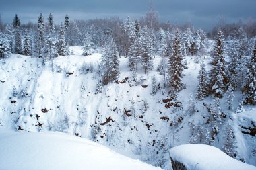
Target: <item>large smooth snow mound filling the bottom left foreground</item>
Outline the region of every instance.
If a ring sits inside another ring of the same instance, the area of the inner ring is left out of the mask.
[[[0,131],[0,169],[160,169],[76,136]]]

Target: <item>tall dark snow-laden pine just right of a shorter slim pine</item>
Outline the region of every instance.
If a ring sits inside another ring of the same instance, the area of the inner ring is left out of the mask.
[[[212,51],[212,61],[210,62],[212,69],[210,70],[210,93],[216,97],[222,97],[226,90],[228,77],[226,75],[226,64],[223,56],[223,34],[218,30],[214,50]]]

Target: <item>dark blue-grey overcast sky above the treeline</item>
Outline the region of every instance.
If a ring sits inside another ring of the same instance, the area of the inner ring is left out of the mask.
[[[3,1],[3,0],[1,0]],[[256,19],[256,0],[154,0],[162,22],[184,24],[192,22],[196,28],[210,29],[222,15],[226,22]],[[3,22],[12,22],[15,13],[22,23],[36,22],[40,13],[53,14],[61,23],[66,14],[70,19],[94,19],[119,16],[137,18],[149,9],[149,0],[7,0],[1,3]]]

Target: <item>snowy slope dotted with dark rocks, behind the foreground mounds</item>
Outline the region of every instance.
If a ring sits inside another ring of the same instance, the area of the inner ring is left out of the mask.
[[[77,135],[123,155],[170,169],[168,149],[188,144],[191,137],[189,124],[194,121],[205,125],[206,106],[213,105],[212,97],[203,101],[195,99],[200,68],[195,62],[196,57],[185,57],[188,69],[184,72],[183,83],[186,89],[179,93],[177,101],[167,102],[173,102],[168,108],[164,101],[168,95],[161,89],[163,76],[156,71],[160,57],[154,58],[154,69],[148,75],[139,68],[138,85],[131,80],[128,58],[120,58],[119,82],[109,83],[103,87],[103,93],[96,93],[99,80],[96,70],[101,54],[81,56],[79,46],[71,47],[71,52],[74,55],[59,56],[46,65],[42,65],[42,58],[21,55],[0,60],[0,128]],[[203,57],[209,69],[210,57]],[[156,75],[158,87],[154,96],[150,95],[153,75]],[[191,116],[187,114],[190,94],[197,110]],[[242,95],[238,91],[234,94],[235,110]],[[226,118],[213,144],[222,148],[224,124],[230,122],[235,131],[236,158],[256,165],[256,138],[242,133],[247,131],[245,128],[253,128],[255,107],[247,106],[236,114],[234,110],[226,109],[224,101],[224,97],[220,99],[220,107]],[[146,104],[148,108],[145,109]],[[132,108],[135,117],[129,116]]]

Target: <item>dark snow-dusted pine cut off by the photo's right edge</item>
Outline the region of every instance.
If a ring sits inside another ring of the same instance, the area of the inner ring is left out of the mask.
[[[248,65],[248,72],[246,76],[246,83],[243,87],[245,93],[245,104],[256,104],[256,42],[254,44],[253,54]]]

